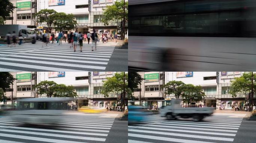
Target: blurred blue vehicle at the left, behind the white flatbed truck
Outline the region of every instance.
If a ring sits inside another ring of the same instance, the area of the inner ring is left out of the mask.
[[[147,115],[150,115],[147,107],[128,106],[128,123],[142,122]]]

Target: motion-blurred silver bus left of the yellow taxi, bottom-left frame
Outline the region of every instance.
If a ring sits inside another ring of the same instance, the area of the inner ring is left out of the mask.
[[[18,122],[52,124],[61,121],[63,113],[68,109],[68,102],[74,100],[71,97],[23,98],[16,100],[16,110],[8,113]]]

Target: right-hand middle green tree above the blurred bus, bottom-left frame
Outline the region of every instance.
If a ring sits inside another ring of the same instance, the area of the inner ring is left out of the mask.
[[[76,97],[77,94],[73,86],[66,86],[64,84],[57,84],[53,87],[54,97]]]

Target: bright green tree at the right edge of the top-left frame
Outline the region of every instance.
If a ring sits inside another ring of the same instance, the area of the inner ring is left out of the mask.
[[[128,21],[128,0],[117,0],[111,6],[106,6],[103,9],[103,19],[101,20],[104,25],[109,25],[110,21],[117,21],[122,19],[122,39],[125,37],[125,23]]]

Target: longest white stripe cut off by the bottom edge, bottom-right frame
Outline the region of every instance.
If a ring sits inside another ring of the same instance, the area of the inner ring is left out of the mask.
[[[153,140],[164,140],[169,142],[178,142],[178,143],[213,143],[213,142],[202,142],[197,140],[185,140],[185,139],[176,139],[170,137],[159,137],[159,136],[149,136],[149,135],[141,135],[141,134],[132,134],[128,133],[128,137],[139,137],[144,139],[153,139]]]

